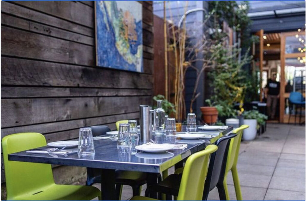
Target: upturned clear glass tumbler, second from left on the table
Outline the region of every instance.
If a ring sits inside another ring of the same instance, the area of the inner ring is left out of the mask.
[[[131,152],[131,134],[128,123],[119,124],[117,148],[119,153]]]

